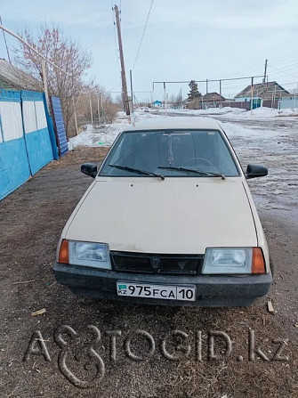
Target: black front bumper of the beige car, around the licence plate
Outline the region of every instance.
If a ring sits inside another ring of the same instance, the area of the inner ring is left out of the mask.
[[[255,298],[265,296],[272,283],[272,275],[230,276],[230,275],[160,275],[98,270],[77,265],[55,263],[53,272],[56,280],[68,286],[74,293],[108,300],[153,305],[188,306],[246,306]],[[155,285],[196,286],[195,301],[162,300],[156,298],[117,296],[117,281]]]

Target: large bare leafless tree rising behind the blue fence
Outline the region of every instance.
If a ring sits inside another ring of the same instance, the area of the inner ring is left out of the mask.
[[[68,73],[66,75],[47,64],[49,92],[60,97],[67,135],[71,136],[74,128],[72,97],[82,91],[82,78],[90,68],[91,53],[83,49],[77,41],[66,37],[62,28],[57,25],[49,28],[46,24],[41,24],[36,36],[25,26],[19,31],[19,35],[44,57]],[[40,56],[21,43],[14,49],[14,53],[14,61],[20,69],[36,78],[42,76]]]

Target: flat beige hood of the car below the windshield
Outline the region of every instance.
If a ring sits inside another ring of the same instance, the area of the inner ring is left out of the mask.
[[[109,243],[110,250],[165,254],[257,246],[239,177],[97,178],[65,238]]]

